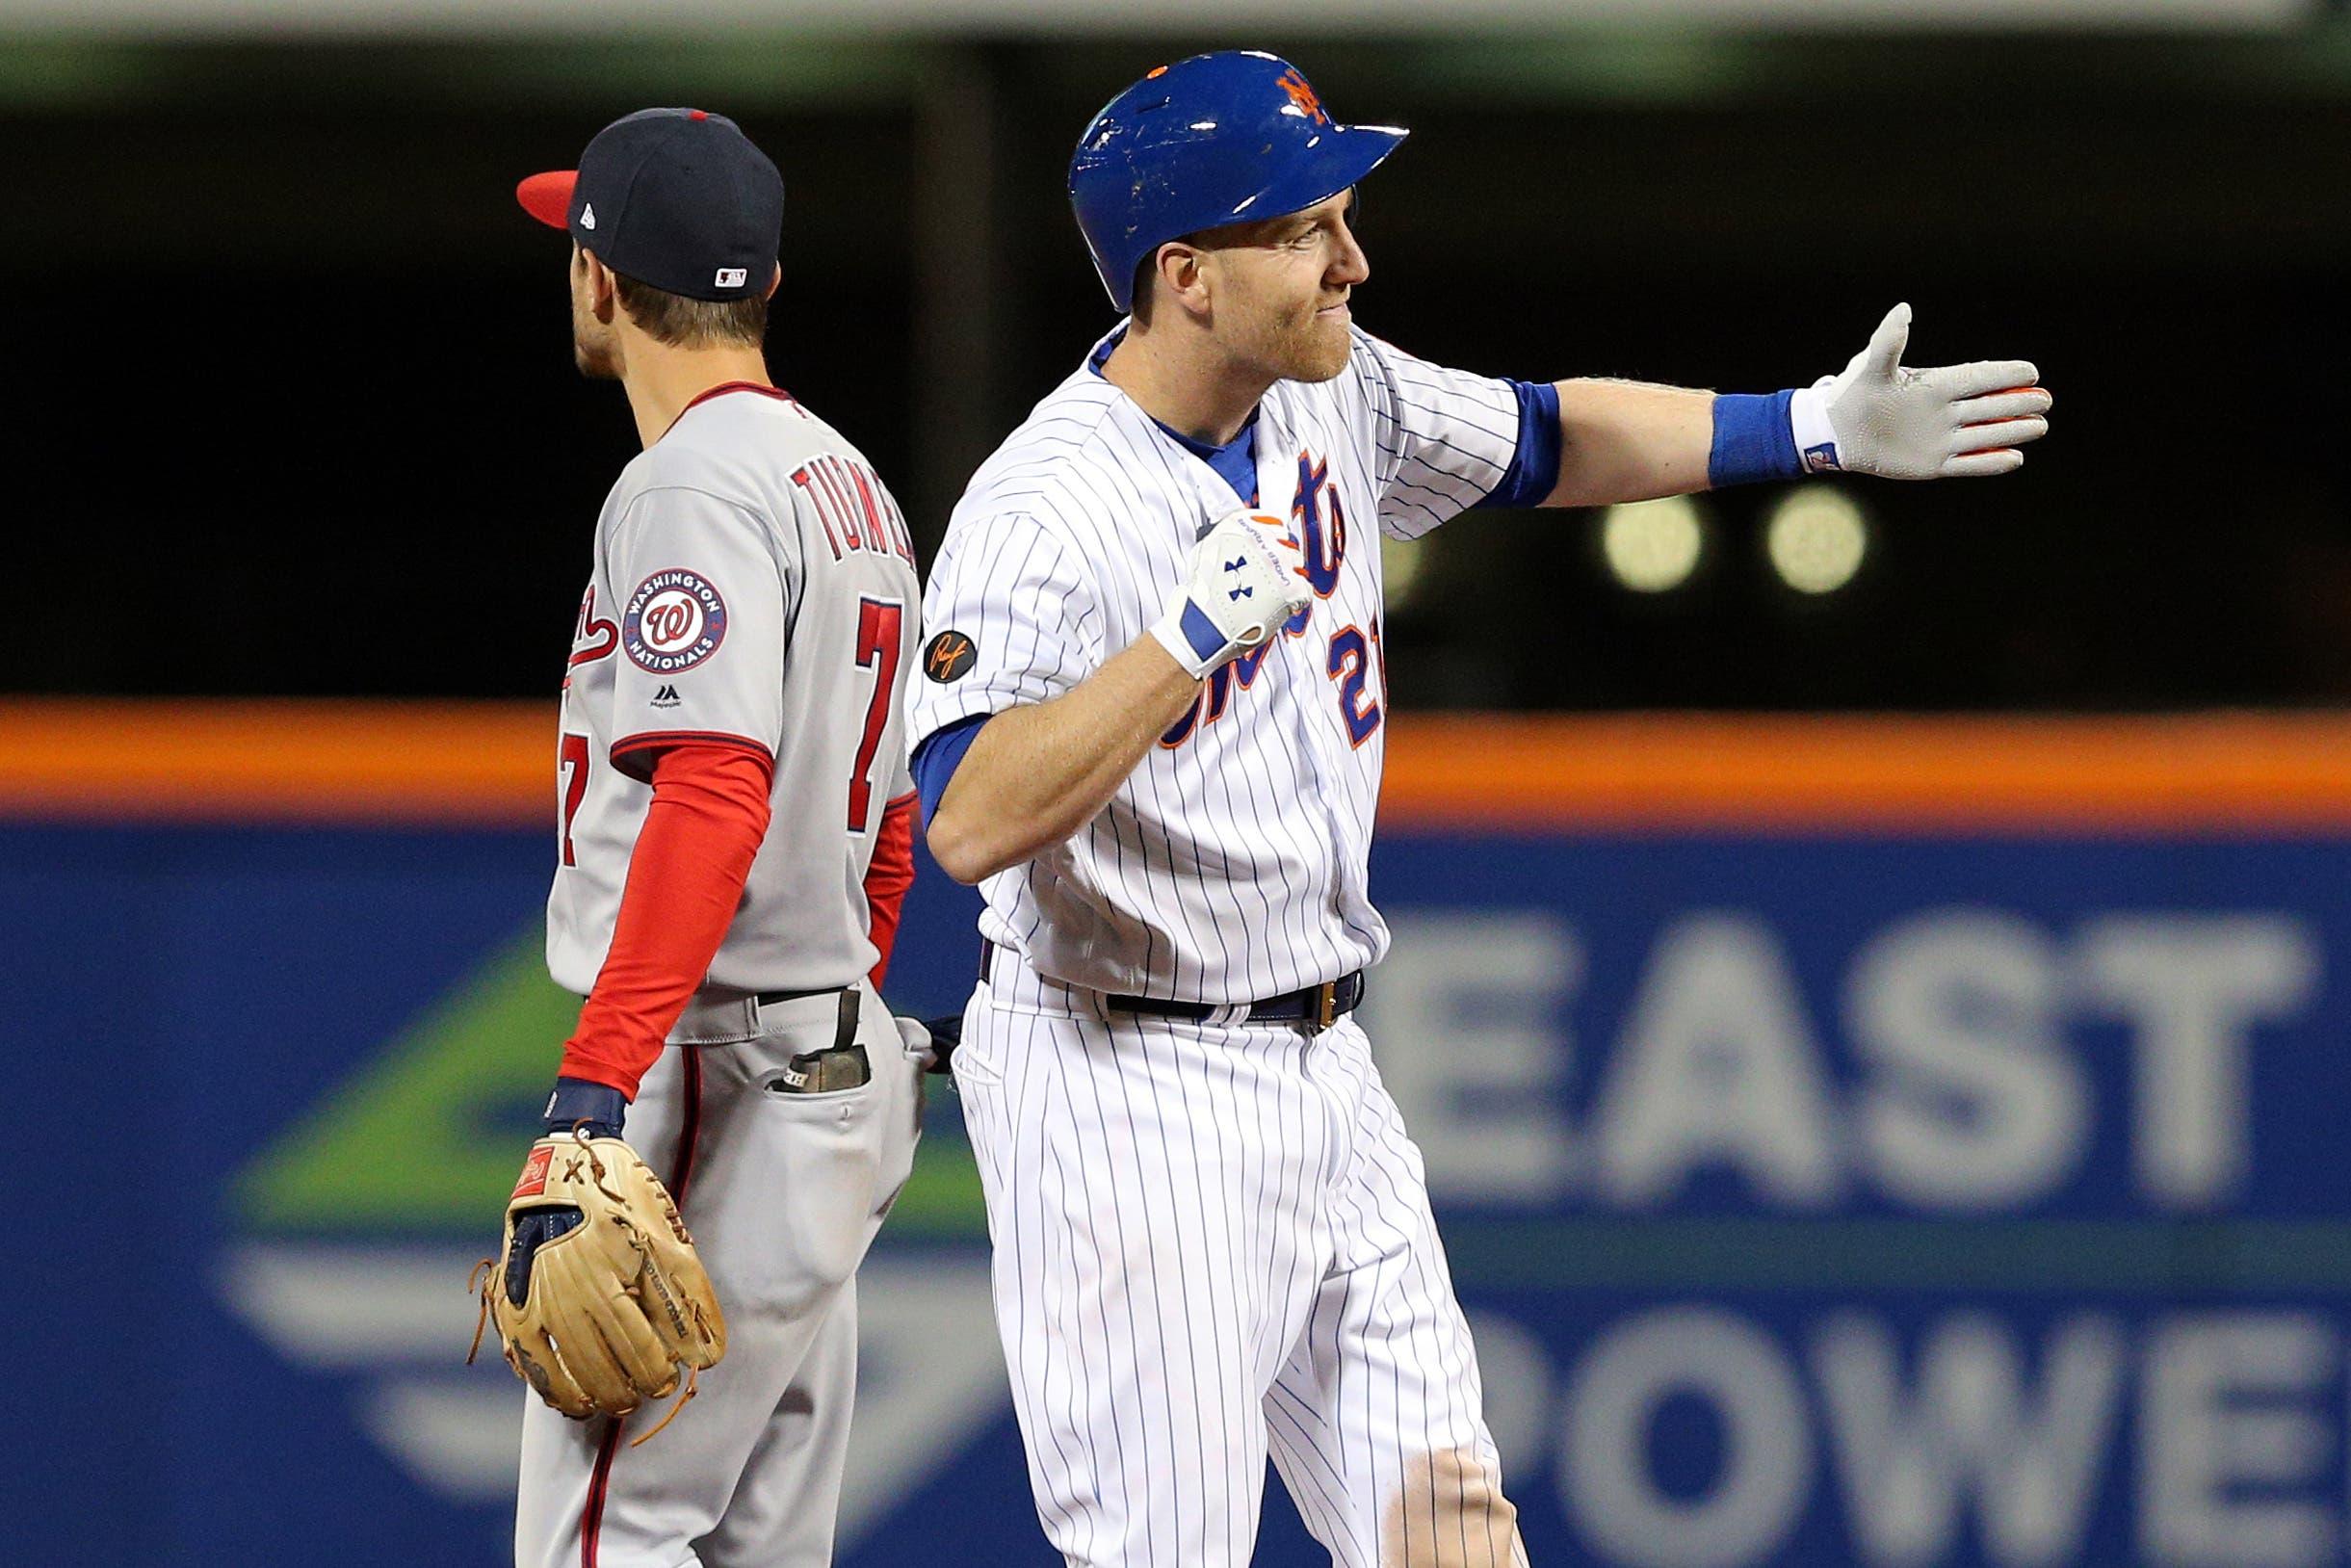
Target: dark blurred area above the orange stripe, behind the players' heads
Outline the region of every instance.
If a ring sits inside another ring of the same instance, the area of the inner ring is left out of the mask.
[[[776,155],[776,376],[868,449],[929,552],[1112,322],[1063,197],[1074,134],[1152,63],[1248,42],[1340,118],[1415,129],[1366,193],[1359,296],[1413,353],[1770,390],[1841,369],[1907,299],[1911,362],[2024,355],[2057,393],[2017,477],[1822,487],[1794,564],[1780,489],[1465,517],[1392,559],[1404,705],[2351,696],[2342,7],[1074,42],[919,16],[858,40],[825,12],[813,38],[411,42],[73,33],[19,5],[9,691],[552,693],[635,442],[618,390],[571,369],[564,244],[510,188],[647,103],[731,113]],[[2201,31],[2146,26],[2175,14]]]

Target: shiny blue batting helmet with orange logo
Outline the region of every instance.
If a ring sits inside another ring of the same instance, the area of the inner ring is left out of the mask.
[[[1404,136],[1338,125],[1286,59],[1194,54],[1103,106],[1070,158],[1070,205],[1110,303],[1128,310],[1136,268],[1168,240],[1312,207]]]

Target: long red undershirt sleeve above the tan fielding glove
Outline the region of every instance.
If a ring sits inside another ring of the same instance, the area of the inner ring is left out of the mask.
[[[654,804],[628,856],[611,952],[564,1041],[562,1077],[637,1098],[743,903],[773,776],[752,745],[684,743],[654,759]]]

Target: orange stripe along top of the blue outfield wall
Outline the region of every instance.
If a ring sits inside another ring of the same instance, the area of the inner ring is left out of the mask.
[[[0,816],[552,825],[552,703],[0,701]],[[1389,827],[2351,832],[2351,715],[1389,722]]]

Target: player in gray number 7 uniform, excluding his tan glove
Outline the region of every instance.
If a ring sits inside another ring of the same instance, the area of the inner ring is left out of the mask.
[[[915,548],[858,449],[769,381],[783,179],[734,122],[628,115],[517,197],[569,230],[576,360],[644,440],[562,696],[548,966],[588,1001],[548,1128],[621,1135],[668,1182],[726,1354],[651,1441],[661,1410],[531,1399],[515,1561],[828,1563],[853,1269],[922,1114],[922,1034],[875,992],[912,879]],[[562,1234],[517,1222],[510,1300]]]

